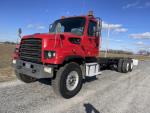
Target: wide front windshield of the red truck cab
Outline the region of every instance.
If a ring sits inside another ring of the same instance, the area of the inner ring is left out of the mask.
[[[69,32],[79,36],[83,35],[85,27],[85,18],[82,17],[74,17],[74,18],[66,18],[55,21],[51,28],[50,33],[58,33],[58,32]]]

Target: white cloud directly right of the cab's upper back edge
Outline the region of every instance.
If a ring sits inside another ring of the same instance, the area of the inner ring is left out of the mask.
[[[127,32],[128,29],[123,28],[122,24],[108,24],[106,22],[102,22],[102,28],[103,29],[108,29],[108,27],[117,32],[117,33],[121,33],[121,32]]]

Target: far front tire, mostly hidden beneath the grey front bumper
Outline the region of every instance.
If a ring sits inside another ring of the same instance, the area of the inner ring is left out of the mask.
[[[19,80],[25,82],[25,83],[32,83],[32,82],[35,82],[36,79],[33,78],[33,77],[29,77],[27,75],[24,75],[24,74],[21,74],[21,73],[17,73],[16,72],[16,76]]]

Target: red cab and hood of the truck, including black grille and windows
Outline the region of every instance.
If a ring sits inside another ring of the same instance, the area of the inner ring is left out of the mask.
[[[51,24],[49,33],[37,33],[22,38],[19,59],[60,65],[73,57],[96,57],[100,38],[97,27],[97,20],[93,15],[56,20]]]

